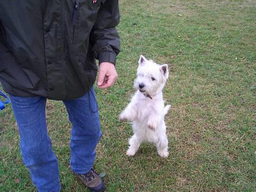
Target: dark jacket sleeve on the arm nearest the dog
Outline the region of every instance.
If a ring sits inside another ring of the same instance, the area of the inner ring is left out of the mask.
[[[99,63],[110,62],[115,65],[120,52],[120,37],[115,29],[119,24],[119,17],[118,0],[107,0],[98,10],[90,39],[92,51]]]

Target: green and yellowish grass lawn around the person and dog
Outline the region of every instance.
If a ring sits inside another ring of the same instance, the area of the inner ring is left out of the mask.
[[[256,2],[119,3],[119,79],[96,88],[103,137],[95,167],[106,172],[106,191],[255,191]],[[141,54],[169,66],[167,159],[147,143],[125,155],[132,130],[118,115],[134,92]],[[69,167],[71,124],[62,102],[48,101],[47,119],[62,191],[87,191]],[[36,191],[10,105],[0,112],[0,146],[0,191]]]

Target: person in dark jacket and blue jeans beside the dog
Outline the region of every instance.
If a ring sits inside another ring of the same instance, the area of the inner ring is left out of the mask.
[[[60,191],[57,158],[45,120],[46,98],[65,104],[71,168],[92,191],[104,182],[92,169],[101,137],[92,85],[117,79],[118,0],[0,2],[0,81],[19,127],[22,159],[38,191]]]

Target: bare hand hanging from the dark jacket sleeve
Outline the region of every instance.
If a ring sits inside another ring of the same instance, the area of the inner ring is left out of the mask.
[[[118,74],[113,63],[102,62],[98,69],[98,88],[104,89],[112,86],[117,80]]]

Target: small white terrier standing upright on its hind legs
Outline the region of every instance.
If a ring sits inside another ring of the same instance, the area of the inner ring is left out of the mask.
[[[142,55],[138,63],[134,82],[137,91],[119,117],[121,121],[132,121],[134,135],[129,140],[130,147],[126,154],[135,155],[141,142],[148,141],[156,144],[162,158],[167,158],[168,140],[164,117],[171,106],[164,106],[162,89],[168,78],[168,66],[157,65]]]

